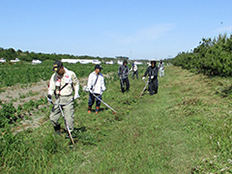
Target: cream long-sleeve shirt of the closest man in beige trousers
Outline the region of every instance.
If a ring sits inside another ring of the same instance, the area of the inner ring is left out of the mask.
[[[68,83],[68,85],[60,91],[61,96],[72,95],[73,88],[75,93],[78,93],[79,80],[77,79],[76,74],[73,71],[68,70],[67,68],[64,68],[64,70],[65,73],[63,74],[63,76],[60,76],[56,72],[52,74],[52,77],[49,81],[48,94],[53,95],[55,90],[56,94],[58,94],[59,90],[57,86],[60,86],[60,88],[62,88],[66,83]]]

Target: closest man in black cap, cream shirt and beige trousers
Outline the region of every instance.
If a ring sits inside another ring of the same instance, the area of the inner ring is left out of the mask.
[[[69,103],[63,106],[63,111],[70,128],[70,132],[74,129],[74,102],[79,96],[79,80],[73,71],[68,70],[63,66],[61,61],[55,61],[53,64],[53,71],[55,71],[49,81],[48,96],[49,102],[52,102],[52,96],[55,94],[56,102]],[[74,96],[72,95],[75,92]],[[58,105],[54,105],[50,114],[50,120],[54,127],[55,133],[60,134],[60,110]]]

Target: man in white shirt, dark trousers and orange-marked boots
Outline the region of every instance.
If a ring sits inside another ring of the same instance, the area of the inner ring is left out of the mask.
[[[92,73],[90,73],[88,77],[88,83],[87,83],[87,90],[89,91],[88,113],[91,113],[92,106],[95,102],[95,96],[97,96],[95,113],[98,114],[101,105],[100,100],[102,100],[102,93],[106,90],[104,77],[101,73],[101,70],[102,70],[101,65],[96,65],[95,70]]]

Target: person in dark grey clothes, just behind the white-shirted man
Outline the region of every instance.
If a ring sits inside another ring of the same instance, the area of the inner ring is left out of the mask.
[[[121,90],[124,93],[125,91],[129,91],[130,82],[128,79],[129,75],[129,68],[127,66],[127,60],[123,61],[123,64],[119,66],[118,69],[118,76],[120,78]],[[126,83],[126,90],[124,89],[124,83]]]

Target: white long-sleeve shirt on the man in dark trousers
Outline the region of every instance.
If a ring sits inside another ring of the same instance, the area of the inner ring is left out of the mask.
[[[98,76],[98,78],[97,78],[97,76]],[[103,91],[106,90],[103,75],[101,73],[99,73],[97,75],[95,73],[95,71],[93,71],[92,73],[90,73],[89,78],[88,78],[87,87],[88,87],[88,89],[92,88],[93,93],[101,95],[103,93]]]

